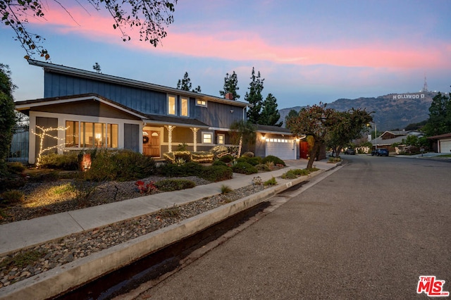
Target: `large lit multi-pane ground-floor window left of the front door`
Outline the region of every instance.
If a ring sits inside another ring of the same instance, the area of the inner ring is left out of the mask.
[[[118,128],[118,124],[67,120],[65,146],[68,148],[118,148]]]

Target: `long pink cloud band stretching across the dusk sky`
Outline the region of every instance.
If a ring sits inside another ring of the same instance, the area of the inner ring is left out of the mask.
[[[159,51],[171,55],[221,58],[234,61],[269,61],[289,65],[337,65],[390,69],[451,68],[451,44],[408,44],[406,42],[375,42],[359,45],[357,42],[341,44],[296,45],[269,44],[254,32],[178,33],[177,27],[168,28],[163,46],[154,49],[148,42],[140,42],[137,32],[125,30],[132,36],[122,42],[121,32],[113,29],[113,19],[94,11],[90,15],[82,8],[70,8],[72,20],[61,9],[47,11],[47,23],[62,34],[81,35],[87,39],[119,44],[130,49]],[[33,22],[33,20],[30,20]]]

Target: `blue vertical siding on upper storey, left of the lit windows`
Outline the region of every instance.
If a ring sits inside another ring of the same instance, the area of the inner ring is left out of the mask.
[[[119,104],[142,113],[166,115],[166,93],[118,85],[99,80],[46,72],[44,75],[44,97],[99,94]]]

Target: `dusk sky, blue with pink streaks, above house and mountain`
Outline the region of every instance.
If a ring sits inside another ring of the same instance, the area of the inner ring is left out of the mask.
[[[67,6],[76,23],[44,3],[47,21],[30,19],[29,30],[45,37],[58,65],[92,71],[97,62],[104,74],[168,87],[188,72],[193,88],[212,96],[235,70],[240,101],[254,67],[279,109],[419,92],[425,75],[430,90],[450,92],[450,0],[179,0],[156,48],[123,42],[108,13],[85,1]],[[0,25],[0,63],[13,73],[15,99],[42,98],[42,68],[28,65],[13,35]]]

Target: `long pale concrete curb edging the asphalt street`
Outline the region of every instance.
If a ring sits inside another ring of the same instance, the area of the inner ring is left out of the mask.
[[[180,239],[190,237],[207,227],[230,218],[232,215],[270,199],[272,196],[285,191],[285,189],[289,189],[324,172],[326,170],[318,170],[294,180],[280,179],[280,182],[275,187],[195,215],[180,223],[150,232],[147,235],[131,239],[109,249],[104,249],[85,258],[61,265],[47,272],[16,282],[8,287],[3,287],[0,299],[49,299],[62,294],[106,273],[129,265],[165,246],[178,242]]]

